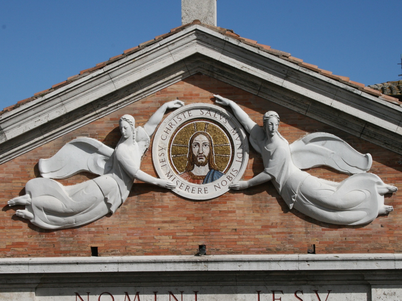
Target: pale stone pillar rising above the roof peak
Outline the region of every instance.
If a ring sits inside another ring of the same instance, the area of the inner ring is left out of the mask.
[[[181,0],[181,24],[193,20],[216,26],[217,0]]]

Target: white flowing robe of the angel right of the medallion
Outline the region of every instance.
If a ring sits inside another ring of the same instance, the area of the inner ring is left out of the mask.
[[[265,172],[290,209],[331,224],[359,225],[377,217],[378,204],[384,203],[384,196],[377,192],[377,185],[383,184],[377,175],[357,173],[340,183],[314,177],[295,166],[288,142],[279,137],[269,144],[263,128],[256,126],[250,142],[263,157]]]

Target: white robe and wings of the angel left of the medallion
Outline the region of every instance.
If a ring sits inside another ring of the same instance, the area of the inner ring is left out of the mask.
[[[39,170],[43,177],[25,185],[32,199],[31,205],[25,206],[34,216],[31,222],[45,229],[70,228],[114,213],[133,185],[133,177],[126,173],[124,164],[133,161],[130,165],[135,166],[136,172],[149,142],[145,130],[137,127],[132,153],[122,151],[120,142],[113,150],[92,138],[78,138],[52,158],[41,159]],[[82,170],[101,176],[70,186],[49,179],[64,179]]]

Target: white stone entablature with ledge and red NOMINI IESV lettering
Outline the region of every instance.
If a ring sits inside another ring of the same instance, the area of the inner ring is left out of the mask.
[[[0,299],[398,301],[401,254],[0,259]]]

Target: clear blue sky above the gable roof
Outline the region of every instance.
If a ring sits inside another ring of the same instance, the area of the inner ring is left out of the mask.
[[[217,25],[366,85],[402,79],[401,0],[217,0]],[[181,25],[180,0],[0,0],[0,110]]]

